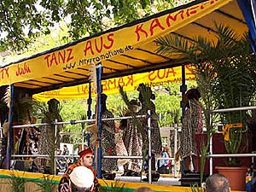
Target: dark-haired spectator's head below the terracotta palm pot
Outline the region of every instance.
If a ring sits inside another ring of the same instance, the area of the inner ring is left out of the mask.
[[[230,183],[224,175],[215,173],[207,177],[207,192],[230,192]]]

